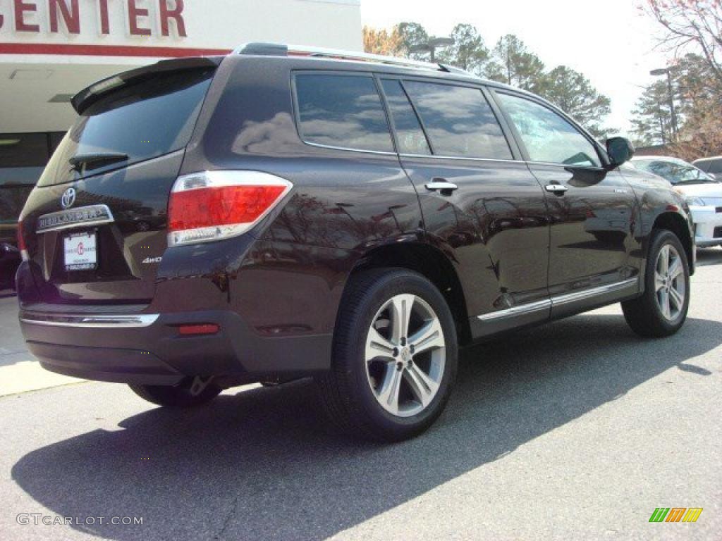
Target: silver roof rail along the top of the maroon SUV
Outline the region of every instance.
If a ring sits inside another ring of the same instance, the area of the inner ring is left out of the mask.
[[[351,60],[360,62],[376,62],[389,66],[402,66],[405,68],[430,69],[433,71],[446,71],[452,74],[461,74],[474,77],[469,71],[461,68],[447,66],[440,63],[422,62],[410,58],[397,56],[383,56],[370,53],[360,53],[355,50],[327,49],[321,47],[308,47],[306,45],[284,45],[282,43],[244,43],[233,50],[235,55],[256,56],[311,56],[314,58],[336,58],[337,60]]]

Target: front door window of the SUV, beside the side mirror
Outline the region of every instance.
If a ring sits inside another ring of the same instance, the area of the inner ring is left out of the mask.
[[[532,162],[599,167],[594,146],[551,109],[510,94],[497,94]]]

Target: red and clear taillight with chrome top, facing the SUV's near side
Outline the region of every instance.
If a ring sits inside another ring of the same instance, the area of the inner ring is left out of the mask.
[[[170,246],[209,242],[247,232],[293,188],[256,171],[206,171],[178,177],[168,205]]]

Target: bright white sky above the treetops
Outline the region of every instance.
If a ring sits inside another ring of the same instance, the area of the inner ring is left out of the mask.
[[[630,130],[635,102],[666,66],[670,55],[655,48],[658,23],[637,9],[639,0],[361,0],[364,25],[391,28],[419,22],[436,36],[460,22],[477,27],[488,48],[516,34],[547,69],[563,64],[582,72],[612,100],[606,126]]]

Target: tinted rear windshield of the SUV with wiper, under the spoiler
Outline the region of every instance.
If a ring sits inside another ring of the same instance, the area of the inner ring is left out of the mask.
[[[38,185],[69,182],[86,171],[97,175],[182,149],[191,138],[212,74],[212,69],[152,74],[95,102],[58,146]],[[96,162],[94,167],[77,167],[78,159],[88,157]]]

